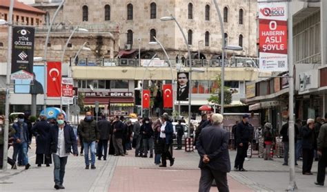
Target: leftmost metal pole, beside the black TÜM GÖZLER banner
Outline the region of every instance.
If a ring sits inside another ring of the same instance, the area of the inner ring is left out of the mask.
[[[8,51],[7,51],[7,74],[6,74],[6,105],[5,105],[5,130],[3,133],[3,159],[2,170],[7,171],[8,158],[8,130],[9,130],[9,98],[10,98],[10,74],[12,56],[12,12],[14,10],[14,0],[10,0],[9,20],[8,20]]]

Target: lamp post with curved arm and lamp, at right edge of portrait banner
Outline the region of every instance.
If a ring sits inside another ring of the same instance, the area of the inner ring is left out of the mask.
[[[189,87],[189,89],[188,89],[188,138],[190,138],[190,118],[191,118],[191,100],[192,100],[192,86],[191,86],[191,84],[192,84],[192,57],[190,54],[190,47],[188,46],[188,40],[186,39],[186,36],[183,32],[183,29],[181,28],[181,25],[179,25],[176,18],[173,17],[172,14],[170,14],[170,16],[168,16],[168,17],[161,17],[160,20],[161,21],[175,21],[179,30],[181,31],[181,34],[183,35],[186,48],[188,49],[188,60],[189,60],[189,65],[190,65],[190,74],[189,74],[190,83],[188,86]]]

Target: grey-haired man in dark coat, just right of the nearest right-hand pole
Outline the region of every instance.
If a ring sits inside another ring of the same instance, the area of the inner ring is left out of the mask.
[[[313,175],[311,173],[311,168],[313,167],[313,157],[314,151],[316,149],[316,136],[315,136],[315,120],[309,118],[306,121],[306,126],[302,129],[303,139],[302,139],[302,174],[303,175]]]

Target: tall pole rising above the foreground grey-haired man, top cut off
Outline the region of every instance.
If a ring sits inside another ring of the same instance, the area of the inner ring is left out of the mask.
[[[217,10],[217,14],[219,17],[219,22],[220,22],[220,30],[221,30],[221,97],[220,97],[220,105],[221,105],[221,111],[220,114],[224,116],[224,86],[225,86],[225,33],[224,33],[224,22],[223,18],[221,17],[221,12],[219,10],[219,6],[217,3],[217,0],[213,0],[213,3],[215,3],[215,7]]]

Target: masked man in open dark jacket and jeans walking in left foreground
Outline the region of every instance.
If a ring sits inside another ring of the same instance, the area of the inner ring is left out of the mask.
[[[65,123],[63,114],[57,115],[57,125],[50,128],[45,153],[50,158],[52,154],[54,163],[54,189],[65,189],[63,176],[69,154],[78,156],[77,139],[74,130]]]

